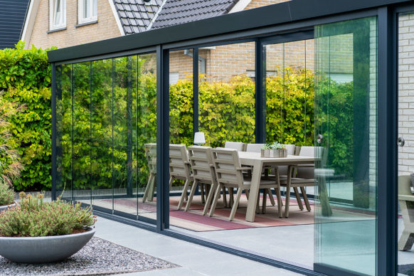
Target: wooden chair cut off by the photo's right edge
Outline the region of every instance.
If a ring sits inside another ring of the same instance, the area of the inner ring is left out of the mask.
[[[404,220],[398,250],[405,251],[410,250],[414,243],[414,195],[410,191],[410,176],[398,176],[398,202]]]

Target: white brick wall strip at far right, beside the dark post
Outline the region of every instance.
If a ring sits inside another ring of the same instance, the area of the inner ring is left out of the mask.
[[[398,20],[398,174],[414,173],[414,14]]]

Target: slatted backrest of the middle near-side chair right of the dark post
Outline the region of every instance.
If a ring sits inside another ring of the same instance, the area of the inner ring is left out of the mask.
[[[211,147],[189,147],[189,159],[194,179],[202,183],[216,183]]]

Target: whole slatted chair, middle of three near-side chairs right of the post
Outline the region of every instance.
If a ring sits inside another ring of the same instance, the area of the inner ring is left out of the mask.
[[[211,159],[211,147],[189,147],[189,159],[191,168],[193,169],[193,186],[187,201],[186,211],[189,211],[191,207],[191,201],[193,201],[194,193],[197,189],[197,184],[210,185],[211,188],[208,191],[206,204],[203,209],[203,216],[206,215],[208,208],[210,208],[211,200],[213,199],[214,192],[217,189],[218,183],[216,180],[216,173],[214,171],[213,159]],[[201,188],[203,189],[203,188]],[[227,205],[226,197],[223,196],[224,206]]]

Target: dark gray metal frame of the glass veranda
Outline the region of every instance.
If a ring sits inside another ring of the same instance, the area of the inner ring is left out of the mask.
[[[121,221],[140,228],[152,230],[174,238],[215,248],[251,260],[264,262],[276,267],[303,273],[305,275],[355,275],[352,272],[338,270],[336,267],[316,265],[318,272],[297,267],[277,260],[262,258],[235,248],[212,243],[208,240],[183,235],[168,230],[169,225],[169,187],[168,183],[168,141],[169,141],[169,50],[174,48],[193,48],[194,65],[198,63],[198,47],[242,42],[248,39],[256,41],[256,126],[264,126],[262,95],[262,51],[261,46],[270,36],[297,36],[300,32],[312,30],[314,25],[344,21],[366,16],[378,16],[378,144],[391,147],[378,147],[378,195],[377,195],[377,275],[396,275],[397,241],[397,151],[396,134],[398,119],[398,13],[413,11],[409,0],[292,0],[259,9],[242,11],[235,14],[218,16],[203,21],[185,23],[154,31],[130,36],[98,41],[85,45],[58,49],[48,52],[52,66],[52,193],[56,196],[56,121],[55,121],[55,66],[86,60],[112,58],[132,53],[150,52],[157,54],[157,154],[161,156],[157,164],[157,204],[156,227],[129,218],[95,211],[100,216]],[[306,6],[306,9],[304,7]],[[196,31],[195,31],[196,30]],[[299,34],[299,35],[298,35]],[[198,68],[198,66],[194,66]],[[198,91],[194,90],[195,95]],[[194,108],[198,107],[194,102]],[[196,113],[196,112],[194,112]],[[198,120],[196,121],[198,122]],[[194,127],[196,129],[196,126]],[[262,128],[263,129],[263,128]],[[256,129],[256,141],[264,141],[264,133]]]

